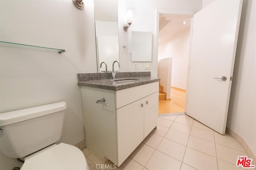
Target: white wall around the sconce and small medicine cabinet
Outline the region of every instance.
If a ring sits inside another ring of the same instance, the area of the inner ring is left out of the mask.
[[[144,62],[138,62],[138,70],[134,70],[131,55],[124,53],[122,45],[127,45],[130,48],[131,31],[149,31],[152,32],[153,36],[150,71],[153,77],[157,77],[158,51],[156,44],[158,39],[156,39],[156,9],[197,12],[202,9],[202,0],[119,0],[118,24],[121,71],[148,71],[144,70]],[[132,10],[133,22],[128,32],[125,32],[123,24],[126,23],[127,10]]]

